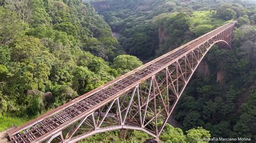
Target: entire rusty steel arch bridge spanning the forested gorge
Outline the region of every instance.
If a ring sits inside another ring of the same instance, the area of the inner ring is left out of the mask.
[[[10,142],[76,142],[127,128],[158,138],[188,81],[216,43],[231,47],[228,23],[8,132]]]

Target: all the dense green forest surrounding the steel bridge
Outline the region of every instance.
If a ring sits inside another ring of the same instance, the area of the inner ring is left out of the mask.
[[[174,111],[175,127],[167,124],[160,139],[256,140],[253,3],[0,0],[0,19],[0,131],[24,124],[141,66],[141,61],[237,19],[232,49],[215,46],[207,54]],[[139,131],[121,137],[120,132],[100,133],[84,141],[151,138]]]

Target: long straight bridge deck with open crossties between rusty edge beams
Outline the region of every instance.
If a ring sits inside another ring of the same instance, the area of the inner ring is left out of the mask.
[[[194,48],[214,37],[218,33],[226,30],[234,23],[228,23],[217,28],[187,44],[174,49],[173,51],[160,56],[159,58],[146,63],[142,67],[134,69],[130,73],[116,78],[115,80],[95,89],[87,94],[80,96],[73,101],[66,103],[45,115],[38,117],[29,123],[10,131],[9,139],[11,142],[31,142],[44,140],[50,134],[62,131],[63,128],[75,123],[93,111],[99,109],[114,98],[130,90],[141,81],[150,78],[166,66],[176,62]]]

